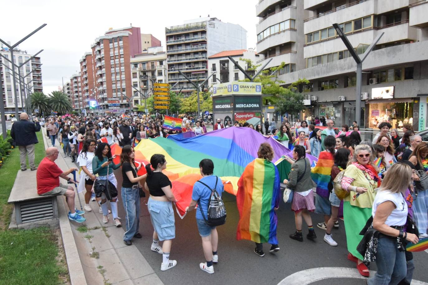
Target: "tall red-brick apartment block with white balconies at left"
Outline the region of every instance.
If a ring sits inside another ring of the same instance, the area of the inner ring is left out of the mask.
[[[109,106],[114,105],[118,111],[128,110],[133,94],[130,59],[153,44],[160,45],[160,41],[151,34],[141,34],[140,28],[133,26],[110,28],[96,38],[91,51],[80,59],[81,85],[77,94],[81,97],[77,100],[80,108],[76,109],[111,112]],[[94,105],[95,109],[90,108]]]

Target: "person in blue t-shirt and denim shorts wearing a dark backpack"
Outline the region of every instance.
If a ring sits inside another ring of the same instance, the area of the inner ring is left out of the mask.
[[[199,162],[199,171],[202,175],[200,182],[215,189],[221,197],[224,187],[221,179],[217,176],[213,176],[214,163],[212,160],[202,159],[201,162]],[[208,226],[202,215],[202,212],[208,213],[208,203],[211,197],[211,188],[206,187],[202,183],[196,182],[195,185],[193,185],[192,202],[190,202],[190,205],[186,208],[186,212],[195,209],[199,201],[201,209],[196,210],[196,224],[198,226],[199,235],[202,238],[202,249],[204,250],[205,259],[207,261],[205,263],[200,263],[199,268],[212,274],[214,273],[213,263],[218,262],[218,234],[216,227]]]

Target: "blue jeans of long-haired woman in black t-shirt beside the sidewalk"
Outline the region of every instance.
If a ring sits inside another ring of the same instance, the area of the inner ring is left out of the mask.
[[[124,241],[130,241],[140,228],[140,192],[138,189],[122,187],[122,203],[126,211]]]

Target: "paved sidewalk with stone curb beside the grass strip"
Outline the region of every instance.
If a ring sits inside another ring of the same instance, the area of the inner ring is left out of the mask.
[[[45,146],[47,144],[50,147],[51,141],[45,135],[43,137]],[[75,167],[76,165],[71,162],[71,158],[64,158],[62,149],[58,149],[61,155],[58,156],[55,162],[59,168],[67,170],[70,167]],[[74,185],[72,187],[74,188]],[[84,192],[79,194],[82,206],[85,205],[83,194]],[[122,217],[123,228],[114,226],[111,214],[109,215],[109,222],[104,224],[102,223],[103,215],[98,212],[98,203],[91,201],[90,206],[92,211],[86,212],[83,215],[86,221],[84,223],[71,222],[67,217],[68,207],[65,203],[65,197],[62,196],[61,200],[63,204],[60,203],[62,206],[59,207],[59,217],[64,248],[72,248],[74,246],[77,248],[78,253],[77,256],[71,250],[71,253],[67,254],[67,250],[65,250],[68,270],[70,276],[75,276],[81,274],[80,271],[83,268],[86,279],[86,282],[83,282],[82,278],[79,281],[76,280],[76,282],[73,282],[71,278],[72,285],[104,285],[107,283],[121,285],[163,284],[137,247],[134,244],[131,246],[124,244],[125,217]],[[80,209],[79,197],[77,195],[74,202],[76,208]],[[119,203],[122,202],[119,201]],[[71,262],[76,263],[79,259],[81,264],[71,266]]]

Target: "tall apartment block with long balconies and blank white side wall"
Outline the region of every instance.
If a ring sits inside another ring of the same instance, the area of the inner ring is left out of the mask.
[[[193,82],[202,82],[211,74],[208,72],[209,56],[223,50],[247,48],[247,31],[243,27],[209,16],[165,28],[165,35],[168,82],[178,82],[173,91],[194,90],[178,71]]]

